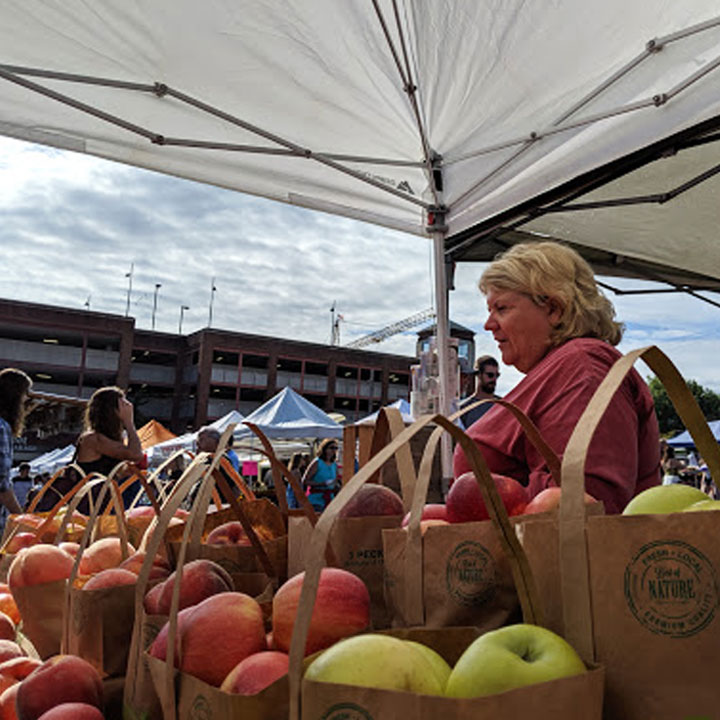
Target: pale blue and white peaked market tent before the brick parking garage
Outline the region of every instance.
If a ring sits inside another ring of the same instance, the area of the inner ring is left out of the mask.
[[[283,388],[253,410],[245,422],[257,425],[268,438],[342,437],[342,425],[291,387]],[[256,437],[246,426],[241,425],[235,430],[235,437],[243,441],[251,436]]]

